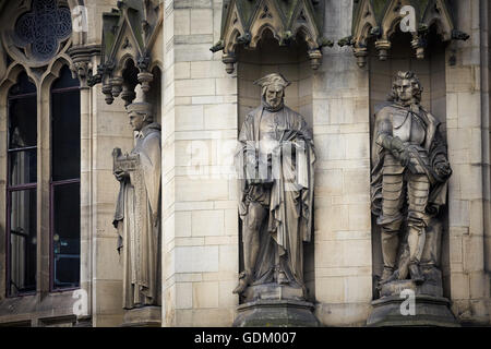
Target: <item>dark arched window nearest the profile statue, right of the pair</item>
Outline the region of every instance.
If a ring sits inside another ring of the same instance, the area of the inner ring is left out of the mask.
[[[80,85],[68,67],[51,87],[51,290],[80,285]]]

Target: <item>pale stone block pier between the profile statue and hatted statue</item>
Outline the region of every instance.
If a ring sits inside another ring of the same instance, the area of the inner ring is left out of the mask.
[[[238,304],[235,180],[220,167],[238,134],[237,79],[209,51],[220,15],[221,1],[166,1],[164,326],[230,326]]]

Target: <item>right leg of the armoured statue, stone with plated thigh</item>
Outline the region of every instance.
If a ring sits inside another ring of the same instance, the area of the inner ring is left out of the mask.
[[[419,269],[426,240],[426,207],[430,194],[430,182],[426,174],[411,174],[408,183],[408,245],[409,273],[411,279],[419,284],[424,280]]]

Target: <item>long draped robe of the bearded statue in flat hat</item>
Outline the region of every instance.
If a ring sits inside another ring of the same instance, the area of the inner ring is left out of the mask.
[[[288,146],[280,146],[273,154],[273,167],[276,164],[278,173],[271,188],[252,184],[248,180],[247,153],[260,147],[263,110],[261,106],[246,117],[236,154],[241,219],[248,215],[251,200],[268,209],[260,231],[261,246],[252,285],[273,282],[275,266],[279,263],[289,284],[303,288],[302,244],[310,242],[312,233],[315,163],[312,132],[299,113],[287,107],[276,111],[276,140],[283,145],[292,144],[291,148],[296,149],[291,152]]]

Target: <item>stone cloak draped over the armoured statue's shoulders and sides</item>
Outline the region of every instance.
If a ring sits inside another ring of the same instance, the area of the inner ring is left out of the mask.
[[[428,219],[434,217],[442,205],[446,203],[446,189],[448,177],[440,177],[435,171],[435,166],[439,163],[447,163],[446,146],[439,132],[440,121],[426,111],[421,106],[414,105],[410,109],[400,107],[396,104],[384,105],[375,115],[375,127],[373,132],[373,145],[372,145],[372,180],[371,180],[371,206],[372,212],[378,216],[378,221],[382,221],[382,178],[384,172],[388,169],[391,174],[402,173],[404,168],[394,163],[394,157],[391,156],[390,151],[385,149],[381,145],[376,144],[379,133],[382,127],[390,124],[391,128],[400,127],[404,119],[398,116],[402,111],[405,113],[415,112],[418,118],[423,122],[426,130],[426,139],[423,148],[428,152],[429,164],[423,166],[423,170],[430,180],[430,195],[428,197],[427,213]],[[397,118],[397,120],[396,120]],[[392,134],[391,134],[392,135]],[[386,155],[390,156],[386,156]],[[385,158],[390,164],[385,164]],[[398,170],[398,168],[400,168]]]

